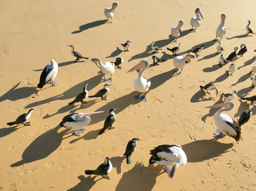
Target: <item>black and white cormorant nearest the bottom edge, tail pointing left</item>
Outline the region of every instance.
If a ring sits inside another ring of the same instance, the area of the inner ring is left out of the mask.
[[[111,172],[112,168],[112,163],[110,162],[109,158],[106,157],[104,159],[104,162],[100,164],[100,166],[98,166],[96,170],[85,170],[85,174],[96,176],[100,175],[106,179],[110,179],[108,174]]]

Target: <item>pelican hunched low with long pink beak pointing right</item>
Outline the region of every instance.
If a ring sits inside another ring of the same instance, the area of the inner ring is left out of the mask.
[[[60,127],[65,127],[73,131],[74,135],[80,136],[80,133],[84,133],[84,127],[90,123],[90,115],[100,114],[104,111],[89,112],[87,114],[69,114],[63,117]]]

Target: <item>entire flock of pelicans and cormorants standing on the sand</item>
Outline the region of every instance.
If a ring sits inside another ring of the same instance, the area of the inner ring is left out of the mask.
[[[114,12],[115,8],[117,8],[118,5],[119,4],[117,2],[114,2],[112,4],[112,7],[105,8],[104,14],[105,14],[106,18],[108,19],[108,21],[106,23],[112,24],[112,19],[113,19],[113,15],[114,15],[113,12]],[[190,21],[190,24],[192,26],[191,30],[194,33],[196,32],[196,29],[198,27],[200,27],[200,25],[201,25],[200,18],[203,19],[203,16],[201,13],[201,8],[197,7],[195,10],[195,13],[196,13],[196,17],[191,18],[191,21]],[[221,22],[216,30],[216,38],[214,41],[217,41],[217,38],[220,38],[220,40],[221,40],[227,32],[227,29],[224,27],[226,14],[221,14],[220,18],[221,18]],[[111,21],[109,19],[111,19]],[[247,31],[246,34],[247,35],[250,33],[254,34],[252,32],[252,29],[249,28],[249,25],[251,22],[250,21],[248,21],[248,22],[249,23],[246,25],[246,31]],[[179,20],[177,27],[171,28],[171,36],[174,37],[174,39],[172,39],[171,42],[177,43],[177,40],[180,37],[180,34],[183,32],[183,29],[181,28],[183,25],[184,25],[184,21]],[[197,29],[197,30],[199,30],[199,29]],[[193,35],[196,35],[196,34],[193,34]],[[220,40],[217,41],[218,46],[217,46],[216,54],[220,54],[220,53],[222,53],[222,51],[225,50],[221,46]],[[131,41],[127,40],[125,43],[121,44],[124,48],[124,52],[129,51],[128,48],[131,46],[130,43],[131,43]],[[88,59],[87,57],[82,56],[77,51],[74,51],[74,47],[72,45],[68,45],[68,46],[71,47],[71,54],[76,57],[76,60],[74,62],[77,62],[79,59],[82,59],[82,58]],[[156,53],[158,53],[158,51],[162,50],[162,48],[160,48],[158,46],[159,45],[155,45],[154,41],[152,42],[151,48],[153,50],[153,52],[152,52],[153,54],[156,54]],[[174,60],[173,60],[173,64],[176,67],[176,70],[175,70],[176,75],[180,75],[183,68],[186,66],[186,64],[191,62],[192,59],[195,59],[199,56],[198,54],[202,52],[204,45],[201,45],[201,46],[195,48],[194,50],[190,50],[188,52],[188,54],[186,54],[184,56],[177,55],[180,48],[181,48],[181,43],[179,43],[178,47],[167,48],[168,50],[170,50],[172,52],[172,55],[175,56]],[[238,47],[235,47],[234,52],[230,53],[230,55],[227,58],[225,58],[222,53],[221,56],[219,57],[219,61],[220,61],[219,66],[222,67],[223,65],[225,65],[229,62],[232,62],[232,60],[236,56],[243,56],[247,51],[247,47],[244,44],[242,44],[241,50],[238,52],[237,51],[238,51]],[[190,54],[190,53],[193,53],[193,54]],[[160,57],[155,56],[155,55],[152,56],[152,59],[153,59],[153,66],[160,62],[165,61],[165,60],[161,60]],[[104,78],[102,81],[103,82],[107,82],[107,81],[112,82],[112,74],[115,71],[115,66],[117,68],[121,69],[121,66],[119,66],[119,65],[123,63],[123,58],[118,57],[115,59],[115,62],[102,63],[101,59],[99,59],[99,58],[91,58],[91,61],[93,63],[95,63],[95,65],[97,67],[99,67],[100,70],[103,72]],[[138,95],[134,97],[135,99],[141,99],[142,101],[146,101],[145,93],[150,89],[151,81],[145,79],[143,77],[143,74],[147,70],[148,67],[150,67],[150,63],[148,62],[148,60],[142,59],[137,65],[135,65],[128,71],[128,72],[133,72],[135,70],[139,70],[138,77],[134,81],[134,88],[138,92]],[[180,72],[178,72],[179,69],[180,69]],[[57,83],[55,82],[55,77],[57,75],[57,71],[58,71],[58,65],[55,62],[55,60],[52,59],[51,65],[47,65],[44,68],[42,74],[40,75],[40,80],[39,80],[39,84],[37,85],[37,88],[42,89],[43,86],[46,85],[47,83],[51,83],[51,86],[57,85]],[[235,71],[236,71],[235,64],[232,63],[229,67],[227,75],[233,76],[233,73]],[[255,72],[256,72],[256,67],[254,66],[249,74],[252,75]],[[107,79],[105,77],[105,75],[110,76],[109,79]],[[99,90],[94,95],[88,95],[89,93],[87,91],[87,85],[89,86],[90,84],[86,84],[86,86],[84,86],[83,91],[80,94],[78,94],[77,97],[72,102],[68,103],[68,105],[77,104],[79,102],[81,102],[81,104],[87,103],[86,102],[87,98],[101,98],[102,100],[106,100],[107,94],[110,93],[109,86],[111,84],[104,84],[103,89]],[[254,88],[254,86],[256,86],[255,77],[253,79],[251,87]],[[207,91],[207,93],[209,95],[211,94],[210,93],[211,90],[215,90],[216,96],[218,96],[218,90],[217,90],[216,86],[213,85],[213,83],[209,83],[204,86],[200,85],[200,88],[202,90]],[[94,91],[92,91],[92,92],[94,92]],[[144,94],[144,95],[142,95],[142,94]],[[220,109],[216,112],[216,114],[214,114],[214,117],[213,117],[216,127],[217,127],[217,131],[216,131],[216,133],[214,133],[214,137],[220,138],[220,137],[224,137],[225,135],[227,135],[227,136],[233,137],[236,140],[236,142],[238,142],[241,139],[241,134],[242,134],[241,126],[243,124],[245,124],[250,119],[252,112],[251,112],[251,110],[244,111],[242,113],[240,119],[238,119],[237,121],[234,120],[233,118],[229,117],[226,114],[222,114],[222,112],[224,112],[224,111],[230,111],[235,108],[235,103],[230,100],[235,99],[236,91],[234,90],[232,93],[226,93],[226,94],[222,93],[222,94],[224,95],[223,103],[207,107],[207,108],[220,107]],[[248,98],[241,98],[241,99],[251,101],[251,104],[254,107],[256,107],[255,106],[256,95],[254,95],[252,97],[248,97]],[[110,109],[110,111],[109,111],[110,115],[108,117],[106,117],[103,128],[100,130],[100,132],[98,132],[99,135],[103,134],[106,131],[106,129],[114,128],[112,125],[115,121],[114,110],[116,110],[116,109],[118,109],[118,108]],[[34,110],[30,109],[27,114],[22,114],[15,121],[7,123],[7,125],[10,125],[10,126],[14,125],[14,124],[30,125],[27,121],[30,118],[32,111],[34,111]],[[63,117],[59,126],[71,129],[73,131],[72,133],[74,135],[80,136],[80,133],[83,133],[85,131],[84,127],[90,123],[90,119],[91,119],[90,116],[95,115],[95,114],[100,114],[101,112],[104,112],[104,111],[95,111],[95,112],[90,112],[87,114],[84,114],[84,113],[69,114],[69,115]],[[123,154],[126,157],[127,164],[131,164],[131,154],[135,150],[137,141],[142,141],[142,140],[139,140],[139,138],[133,138],[127,144],[125,153]],[[178,168],[179,166],[184,166],[187,163],[186,154],[182,150],[180,145],[176,145],[176,144],[159,145],[159,146],[154,147],[154,149],[152,149],[149,153],[151,154],[149,163],[150,164],[156,163],[156,164],[163,165],[164,170],[166,170],[166,172],[168,173],[168,176],[170,178],[174,178],[176,168]],[[171,166],[171,168],[170,168],[170,166]],[[106,157],[104,159],[104,163],[100,164],[100,166],[98,166],[96,170],[85,170],[85,173],[86,173],[86,175],[96,175],[96,176],[100,175],[106,179],[110,179],[108,174],[110,173],[111,170],[112,170],[112,163],[110,162],[110,159],[108,157]]]

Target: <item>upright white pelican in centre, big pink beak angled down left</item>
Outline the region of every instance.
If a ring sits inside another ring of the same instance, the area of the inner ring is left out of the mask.
[[[138,92],[138,95],[135,96],[135,99],[141,99],[142,101],[146,101],[146,98],[144,95],[139,95],[139,92],[145,93],[150,89],[151,82],[150,80],[145,79],[142,77],[145,70],[147,70],[148,66],[150,64],[148,63],[147,59],[142,59],[141,62],[139,62],[136,66],[132,67],[128,72],[133,72],[135,70],[139,70],[139,74],[137,79],[134,80],[134,88]]]

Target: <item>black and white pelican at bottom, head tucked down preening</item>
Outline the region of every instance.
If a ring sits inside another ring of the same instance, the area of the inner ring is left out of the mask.
[[[150,164],[160,164],[170,178],[174,178],[176,168],[187,163],[187,156],[180,145],[159,145],[150,151]],[[171,166],[169,168],[168,166]]]

